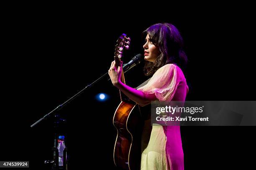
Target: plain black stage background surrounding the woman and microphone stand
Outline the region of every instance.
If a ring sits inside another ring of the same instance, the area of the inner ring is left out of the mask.
[[[50,169],[44,160],[52,157],[52,119],[30,125],[107,72],[122,33],[131,37],[124,62],[143,53],[141,32],[155,23],[172,23],[182,34],[189,59],[187,100],[255,99],[250,5],[177,11],[150,5],[143,13],[78,6],[16,5],[3,13],[0,160]],[[146,80],[142,68],[129,71],[126,84],[136,87]],[[108,94],[106,102],[95,99],[100,92]],[[118,90],[103,79],[58,111],[67,119],[59,134],[66,136],[72,170],[115,169],[112,119],[118,104]],[[181,134],[185,169],[253,167],[255,127],[181,127]]]

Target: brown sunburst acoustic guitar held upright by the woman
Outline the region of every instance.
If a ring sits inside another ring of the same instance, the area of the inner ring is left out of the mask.
[[[115,63],[120,65],[123,51],[129,48],[131,39],[122,34],[115,45]],[[120,68],[122,69],[122,68]],[[122,71],[121,81],[125,83]],[[114,163],[125,170],[139,170],[141,163],[141,132],[143,121],[138,105],[120,90],[121,102],[115,110],[113,125],[117,130],[114,147]]]

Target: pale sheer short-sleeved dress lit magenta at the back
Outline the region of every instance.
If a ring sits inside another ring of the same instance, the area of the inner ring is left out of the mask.
[[[184,101],[188,86],[182,70],[175,64],[167,64],[159,68],[148,83],[137,90],[147,94],[154,93],[160,101]],[[184,170],[179,126],[150,127],[150,121],[145,121],[143,129],[141,170]],[[149,134],[149,139],[146,134]]]

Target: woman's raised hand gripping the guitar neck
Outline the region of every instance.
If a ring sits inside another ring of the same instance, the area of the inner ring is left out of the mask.
[[[115,61],[111,63],[110,69],[108,70],[108,75],[110,76],[111,82],[114,86],[118,86],[121,82],[121,75],[122,75],[122,69],[123,62],[120,61],[120,65],[118,66],[118,69],[116,69]]]

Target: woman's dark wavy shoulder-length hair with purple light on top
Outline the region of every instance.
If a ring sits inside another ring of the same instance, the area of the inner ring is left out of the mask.
[[[183,39],[179,30],[169,23],[158,23],[150,26],[143,34],[148,34],[151,42],[159,47],[161,54],[154,62],[146,61],[144,74],[152,75],[166,64],[176,64],[184,67],[187,64],[187,55],[183,50]]]

